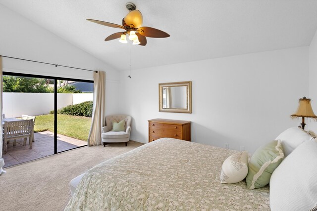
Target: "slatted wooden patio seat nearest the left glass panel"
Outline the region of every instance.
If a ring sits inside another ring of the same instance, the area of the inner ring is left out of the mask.
[[[30,149],[32,149],[33,138],[33,120],[19,120],[19,121],[4,121],[3,125],[3,154],[7,151],[7,141],[13,140],[13,146],[15,146],[16,139],[29,138]],[[26,139],[24,140],[25,145]]]

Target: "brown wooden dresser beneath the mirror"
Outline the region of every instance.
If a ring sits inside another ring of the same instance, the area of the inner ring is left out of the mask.
[[[159,138],[177,138],[190,141],[190,123],[190,121],[182,120],[149,120],[149,142]]]

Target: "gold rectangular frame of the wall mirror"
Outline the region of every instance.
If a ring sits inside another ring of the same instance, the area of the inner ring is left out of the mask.
[[[186,108],[163,108],[163,87],[186,86]],[[159,112],[192,113],[192,82],[174,82],[159,84]]]

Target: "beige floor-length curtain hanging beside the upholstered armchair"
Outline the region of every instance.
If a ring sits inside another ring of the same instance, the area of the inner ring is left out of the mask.
[[[94,73],[93,120],[88,136],[88,146],[101,144],[101,128],[105,126],[106,111],[106,73]]]

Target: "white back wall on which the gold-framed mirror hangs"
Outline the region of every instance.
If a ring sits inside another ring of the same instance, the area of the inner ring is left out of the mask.
[[[211,49],[212,50],[212,49]],[[260,52],[121,73],[122,111],[131,140],[148,142],[148,120],[192,121],[192,141],[254,152],[288,127],[308,94],[309,48]],[[158,84],[192,81],[193,113],[159,112]]]

